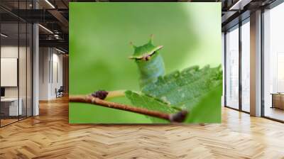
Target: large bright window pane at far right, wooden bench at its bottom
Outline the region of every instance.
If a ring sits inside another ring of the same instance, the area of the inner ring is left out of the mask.
[[[264,13],[264,116],[284,121],[284,4]]]

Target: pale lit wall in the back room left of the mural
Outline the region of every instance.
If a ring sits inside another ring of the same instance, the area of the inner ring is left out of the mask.
[[[39,61],[39,99],[55,99],[55,89],[62,86],[62,54],[54,48],[40,48]]]

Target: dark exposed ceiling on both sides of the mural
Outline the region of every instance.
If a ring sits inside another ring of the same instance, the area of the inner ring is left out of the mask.
[[[58,47],[68,51],[69,2],[127,1],[127,0],[1,0],[0,15],[4,27],[14,29],[18,20],[40,23],[40,46]],[[138,0],[153,1],[153,0]],[[154,0],[162,1],[162,0]],[[163,0],[188,1],[188,0]],[[249,12],[267,6],[275,0],[189,0],[191,2],[222,2],[222,30],[247,18]],[[242,14],[242,16],[240,16]],[[45,29],[47,28],[47,29]],[[51,31],[51,32],[50,32]],[[20,35],[21,36],[21,35]]]

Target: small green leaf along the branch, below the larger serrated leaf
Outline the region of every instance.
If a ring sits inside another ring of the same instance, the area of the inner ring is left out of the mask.
[[[149,97],[145,94],[138,94],[128,90],[125,92],[125,95],[131,101],[133,106],[136,107],[141,107],[152,111],[160,111],[167,114],[174,114],[179,111],[179,109],[175,109],[169,104],[165,104],[165,102],[161,102],[159,99]],[[153,121],[153,123],[168,123],[168,121],[163,119],[158,119],[151,116],[149,116],[149,118]]]

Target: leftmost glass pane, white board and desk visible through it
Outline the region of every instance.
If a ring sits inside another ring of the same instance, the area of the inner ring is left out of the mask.
[[[18,23],[1,23],[1,126],[18,121],[21,114],[18,49]]]

